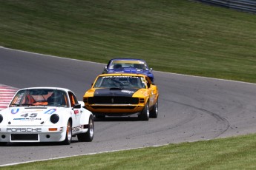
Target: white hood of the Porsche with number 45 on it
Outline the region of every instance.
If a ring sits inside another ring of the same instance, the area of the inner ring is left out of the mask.
[[[56,107],[10,107],[1,112],[8,126],[42,126],[50,115],[61,112]]]

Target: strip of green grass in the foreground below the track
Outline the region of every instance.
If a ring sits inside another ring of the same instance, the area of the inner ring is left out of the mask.
[[[169,144],[0,169],[256,169],[256,135]]]

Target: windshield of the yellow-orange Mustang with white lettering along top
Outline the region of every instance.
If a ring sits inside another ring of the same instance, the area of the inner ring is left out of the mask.
[[[102,76],[96,80],[93,88],[135,88],[144,89],[145,81],[140,76]]]

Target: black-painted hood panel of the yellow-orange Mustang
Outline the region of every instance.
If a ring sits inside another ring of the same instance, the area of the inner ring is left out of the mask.
[[[110,89],[95,89],[94,97],[97,96],[122,96],[122,97],[132,97],[135,92],[139,89],[119,89],[119,88],[110,88]]]

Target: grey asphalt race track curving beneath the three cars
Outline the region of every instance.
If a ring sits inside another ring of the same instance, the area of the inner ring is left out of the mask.
[[[76,61],[0,48],[0,84],[24,88],[59,86],[73,90],[79,101],[104,64]],[[154,68],[153,68],[154,69]],[[0,166],[78,154],[158,146],[256,132],[256,85],[154,72],[160,90],[159,117],[95,121],[91,143],[73,137],[59,143],[8,143],[0,146]]]

